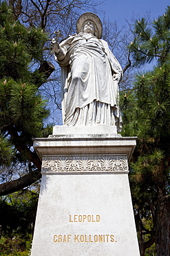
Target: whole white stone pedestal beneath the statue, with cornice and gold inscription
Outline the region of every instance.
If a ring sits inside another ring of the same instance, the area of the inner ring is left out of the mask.
[[[136,138],[111,131],[54,127],[34,139],[43,175],[32,256],[140,255],[128,180]]]

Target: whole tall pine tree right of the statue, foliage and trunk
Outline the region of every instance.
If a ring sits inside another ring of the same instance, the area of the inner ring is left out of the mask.
[[[134,88],[122,95],[123,136],[138,136],[130,179],[141,255],[153,243],[156,255],[170,255],[169,28],[170,6],[152,23],[144,18],[136,21],[129,46],[134,64],[154,60],[156,65],[136,75]]]

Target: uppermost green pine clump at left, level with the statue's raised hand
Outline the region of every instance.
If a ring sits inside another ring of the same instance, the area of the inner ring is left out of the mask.
[[[0,10],[0,77],[30,80],[28,65],[32,60],[42,60],[43,45],[47,35],[39,28],[25,28],[12,20],[12,13],[5,2]]]

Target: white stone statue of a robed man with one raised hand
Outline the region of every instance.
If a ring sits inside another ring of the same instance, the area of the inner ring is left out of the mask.
[[[52,41],[61,66],[63,125],[116,125],[120,131],[118,82],[123,71],[101,35],[100,19],[86,12],[77,21],[77,34],[61,44]]]

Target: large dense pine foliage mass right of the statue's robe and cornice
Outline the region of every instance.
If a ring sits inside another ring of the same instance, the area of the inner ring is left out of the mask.
[[[147,188],[168,179],[170,154],[170,64],[136,76],[122,96],[123,136],[138,136],[131,179]],[[142,189],[144,188],[142,187]],[[150,190],[149,190],[150,191]]]

